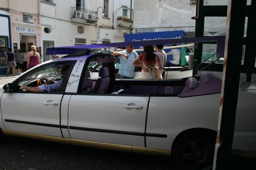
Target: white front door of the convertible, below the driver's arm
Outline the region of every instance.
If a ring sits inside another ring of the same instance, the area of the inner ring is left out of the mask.
[[[62,95],[4,93],[1,99],[2,117],[3,120],[12,120],[12,122],[5,121],[6,129],[61,137],[59,129],[61,98]],[[36,124],[30,124],[32,122]],[[55,127],[40,126],[40,124],[51,124]]]

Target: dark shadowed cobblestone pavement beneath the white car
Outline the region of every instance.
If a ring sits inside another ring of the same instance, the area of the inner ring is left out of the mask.
[[[0,169],[169,169],[169,158],[127,154],[24,138],[0,140]]]

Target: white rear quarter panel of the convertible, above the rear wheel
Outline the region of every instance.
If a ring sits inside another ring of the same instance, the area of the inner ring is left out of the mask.
[[[147,133],[167,134],[167,138],[147,137],[147,147],[169,150],[175,137],[187,129],[205,127],[217,131],[219,99],[220,94],[187,98],[151,97]]]

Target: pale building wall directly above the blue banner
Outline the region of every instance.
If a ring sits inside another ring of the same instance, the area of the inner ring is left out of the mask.
[[[134,29],[153,28],[157,31],[195,31],[196,5],[189,0],[134,1]]]

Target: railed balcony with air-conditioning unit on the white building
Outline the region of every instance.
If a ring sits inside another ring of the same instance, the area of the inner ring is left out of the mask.
[[[96,11],[87,10],[84,7],[71,7],[71,22],[96,24],[99,20]]]

